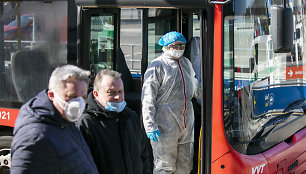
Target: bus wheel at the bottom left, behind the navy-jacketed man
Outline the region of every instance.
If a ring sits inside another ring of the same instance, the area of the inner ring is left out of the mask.
[[[0,136],[0,173],[9,174],[11,168],[12,136]]]

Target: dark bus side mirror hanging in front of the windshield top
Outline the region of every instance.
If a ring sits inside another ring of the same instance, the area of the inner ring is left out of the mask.
[[[293,47],[293,13],[291,8],[271,6],[271,31],[274,52],[291,52]]]

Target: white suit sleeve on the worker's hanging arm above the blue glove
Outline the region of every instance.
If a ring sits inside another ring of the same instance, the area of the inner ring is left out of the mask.
[[[158,90],[161,85],[161,63],[152,62],[144,74],[144,83],[142,87],[142,116],[146,132],[153,132],[158,129],[155,122],[156,101]]]

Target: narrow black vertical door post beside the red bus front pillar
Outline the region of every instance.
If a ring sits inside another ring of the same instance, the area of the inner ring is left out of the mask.
[[[212,156],[212,103],[213,103],[213,45],[214,45],[214,8],[201,10],[201,79],[202,108],[201,108],[201,174],[211,174]],[[211,83],[205,83],[211,82]]]

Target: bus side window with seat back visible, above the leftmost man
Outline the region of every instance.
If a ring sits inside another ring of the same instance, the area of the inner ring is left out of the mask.
[[[18,107],[48,87],[54,67],[67,63],[67,2],[12,1],[3,7],[0,102]]]

